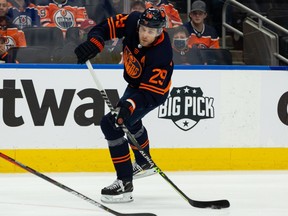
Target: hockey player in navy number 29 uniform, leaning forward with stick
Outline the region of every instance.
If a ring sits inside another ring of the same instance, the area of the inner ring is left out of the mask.
[[[104,41],[124,38],[124,79],[128,86],[117,104],[117,115],[108,113],[101,120],[101,129],[108,141],[117,174],[114,183],[102,189],[103,202],[133,201],[133,177],[155,173],[131,140],[125,138],[121,125],[125,124],[150,155],[142,118],[166,100],[174,67],[170,39],[163,30],[165,23],[166,15],[162,9],[148,8],[143,13],[118,14],[96,25],[89,32],[88,40],[75,49],[78,63],[83,64],[101,52]],[[133,165],[128,142],[136,160]]]

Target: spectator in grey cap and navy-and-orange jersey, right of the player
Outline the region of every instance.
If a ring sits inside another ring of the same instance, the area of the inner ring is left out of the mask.
[[[219,48],[219,36],[216,30],[204,23],[207,17],[206,4],[204,1],[196,0],[192,3],[189,13],[190,21],[184,26],[190,36],[188,46],[197,48]]]

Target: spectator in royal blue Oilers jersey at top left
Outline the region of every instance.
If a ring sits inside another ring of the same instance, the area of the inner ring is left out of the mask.
[[[40,26],[38,10],[30,0],[9,0],[8,5],[7,15],[19,29]]]

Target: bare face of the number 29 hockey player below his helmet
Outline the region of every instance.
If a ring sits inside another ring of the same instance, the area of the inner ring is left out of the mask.
[[[140,25],[139,27],[139,41],[143,47],[150,46],[158,36],[156,28],[149,28],[147,26]]]

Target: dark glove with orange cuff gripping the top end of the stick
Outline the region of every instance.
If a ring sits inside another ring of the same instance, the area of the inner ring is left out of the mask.
[[[87,60],[94,58],[104,48],[103,40],[90,38],[83,42],[75,49],[75,54],[78,59],[78,64],[84,64]]]

